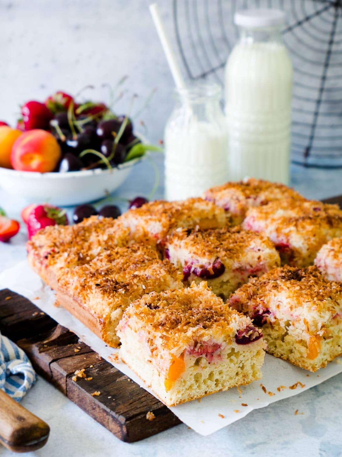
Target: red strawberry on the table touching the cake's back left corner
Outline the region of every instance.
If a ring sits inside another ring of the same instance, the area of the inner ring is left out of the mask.
[[[35,205],[27,217],[29,239],[31,239],[41,228],[56,224],[68,225],[65,210],[47,204]]]

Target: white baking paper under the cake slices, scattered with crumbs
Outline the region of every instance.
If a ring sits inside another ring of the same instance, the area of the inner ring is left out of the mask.
[[[28,298],[57,322],[76,333],[84,343],[98,352],[114,367],[150,392],[145,384],[124,363],[114,363],[111,360],[111,356],[115,352],[119,352],[119,350],[107,347],[102,340],[67,310],[55,306],[54,292],[31,270],[26,260],[0,274],[0,288],[8,288]],[[322,368],[316,373],[311,373],[266,354],[262,372],[263,378],[259,381],[254,381],[248,386],[241,386],[241,393],[237,388],[231,388],[227,392],[208,395],[202,398],[201,401],[193,400],[170,409],[193,430],[201,435],[209,435],[235,422],[235,420],[241,419],[253,409],[263,408],[275,401],[301,393],[322,383],[329,377],[341,373],[342,357],[338,357],[329,363],[326,368]],[[299,383],[304,386],[301,387]],[[266,389],[266,393],[262,386]]]

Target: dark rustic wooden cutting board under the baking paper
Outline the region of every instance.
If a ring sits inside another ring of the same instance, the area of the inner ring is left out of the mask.
[[[342,196],[324,202],[342,207]],[[77,335],[8,289],[0,291],[0,331],[26,352],[38,374],[120,440],[139,441],[180,424],[170,409],[80,343]],[[83,368],[86,378],[75,382],[74,372]],[[148,420],[148,412],[155,419]]]

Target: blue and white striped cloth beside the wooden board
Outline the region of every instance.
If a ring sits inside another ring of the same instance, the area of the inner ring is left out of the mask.
[[[0,334],[0,389],[20,401],[36,381],[25,352]]]

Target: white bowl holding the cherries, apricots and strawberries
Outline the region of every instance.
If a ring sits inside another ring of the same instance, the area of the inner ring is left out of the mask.
[[[113,192],[130,174],[141,158],[111,170],[82,170],[67,173],[36,173],[0,167],[0,186],[32,203],[71,206],[93,202]]]

